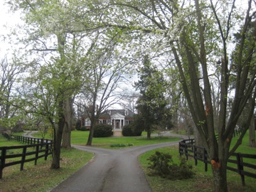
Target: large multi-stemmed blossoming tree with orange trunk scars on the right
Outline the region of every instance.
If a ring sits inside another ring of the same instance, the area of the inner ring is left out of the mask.
[[[227,161],[242,142],[255,110],[253,3],[247,1],[245,9],[235,0],[110,0],[97,4],[98,11],[108,13],[98,17],[101,27],[144,34],[151,44],[149,53],[159,50],[169,67],[177,68],[193,122],[213,162],[215,191],[228,191]],[[219,97],[213,97],[213,82],[220,87]],[[250,99],[243,132],[230,148],[238,118]]]

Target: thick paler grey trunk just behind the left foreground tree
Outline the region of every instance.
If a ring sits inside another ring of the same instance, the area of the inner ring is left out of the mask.
[[[73,99],[67,98],[65,100],[64,111],[65,111],[65,126],[63,130],[63,148],[70,148],[71,147],[71,119],[72,119],[72,106],[73,106]]]

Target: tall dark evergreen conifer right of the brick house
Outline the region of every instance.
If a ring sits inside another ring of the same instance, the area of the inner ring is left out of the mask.
[[[135,87],[141,96],[137,102],[137,118],[144,122],[144,128],[148,133],[154,124],[165,128],[171,115],[164,95],[166,92],[164,75],[150,62],[148,55],[144,57],[143,67],[139,68],[138,73],[140,79],[135,82]]]

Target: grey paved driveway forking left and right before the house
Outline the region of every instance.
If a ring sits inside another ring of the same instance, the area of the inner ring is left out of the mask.
[[[134,146],[127,149],[100,149],[91,146],[74,146],[90,151],[94,158],[75,174],[67,178],[52,192],[148,192],[151,191],[138,156],[146,151],[178,142]]]

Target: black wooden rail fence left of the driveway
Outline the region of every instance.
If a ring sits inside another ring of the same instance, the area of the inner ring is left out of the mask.
[[[20,170],[26,162],[35,161],[43,158],[47,160],[48,155],[52,154],[53,142],[49,139],[37,139],[30,137],[14,136],[4,133],[4,137],[9,140],[23,142],[22,146],[0,146],[0,178],[3,176],[3,169],[7,166],[21,164]],[[14,152],[15,151],[15,152]]]

